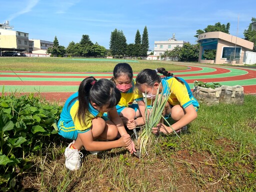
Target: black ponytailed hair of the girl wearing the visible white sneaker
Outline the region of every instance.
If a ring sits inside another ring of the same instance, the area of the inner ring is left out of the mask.
[[[120,98],[121,93],[112,81],[105,78],[96,80],[93,76],[89,76],[81,81],[78,96],[73,98],[69,104],[78,99],[79,105],[76,117],[79,122],[85,124],[85,114],[89,102],[95,103],[98,107],[107,104],[108,108],[112,108],[117,105]]]

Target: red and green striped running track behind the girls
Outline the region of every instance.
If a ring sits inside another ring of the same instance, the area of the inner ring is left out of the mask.
[[[229,86],[241,85],[245,94],[256,94],[256,68],[181,62],[175,64],[187,66],[186,70],[176,71],[174,74],[184,78],[191,89],[194,80],[201,80],[219,82]],[[4,90],[5,94],[8,92],[40,92],[47,100],[63,102],[70,94],[77,91],[83,78],[94,76],[97,79],[109,79],[111,75],[111,72],[0,71],[0,90]],[[134,73],[134,77],[136,75],[137,73]]]

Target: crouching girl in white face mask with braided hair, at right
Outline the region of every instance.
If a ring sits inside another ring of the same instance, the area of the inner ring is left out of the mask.
[[[165,77],[161,78],[157,72]],[[136,86],[139,91],[146,93],[148,99],[155,98],[158,88],[160,94],[170,92],[164,111],[165,116],[170,115],[175,123],[171,127],[158,123],[156,127],[152,128],[154,134],[159,131],[167,134],[172,132],[172,129],[176,132],[183,128],[186,129],[186,124],[197,117],[199,104],[193,97],[187,82],[180,77],[173,76],[164,68],[143,69],[136,77]]]

